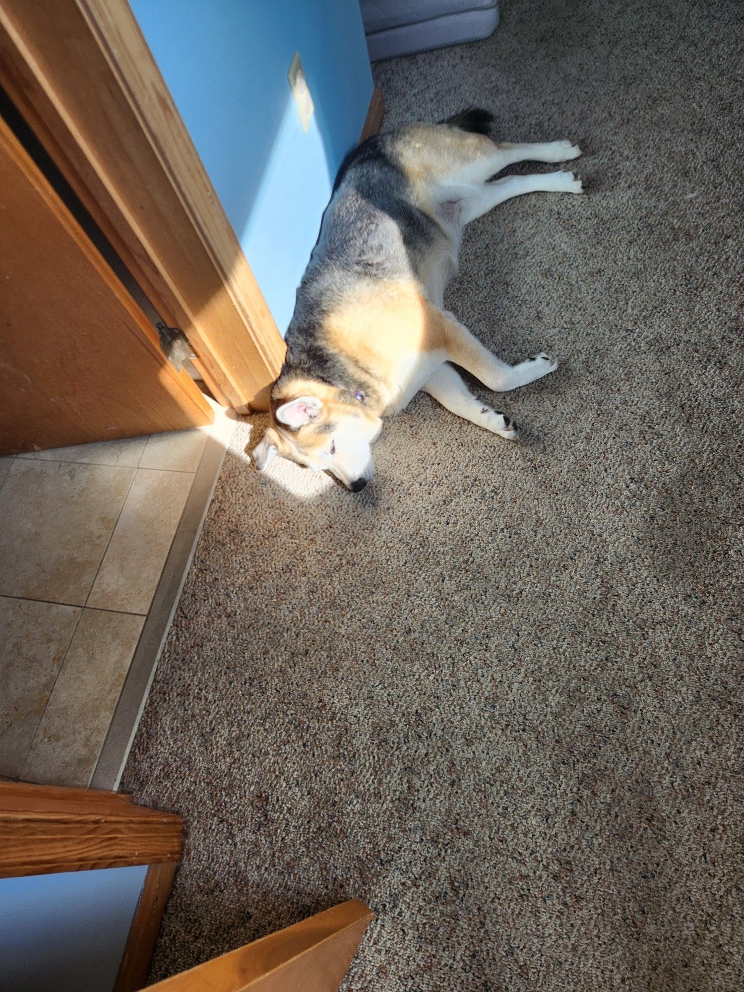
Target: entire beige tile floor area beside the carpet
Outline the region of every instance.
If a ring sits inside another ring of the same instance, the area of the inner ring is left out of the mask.
[[[0,777],[89,785],[211,430],[0,458]]]

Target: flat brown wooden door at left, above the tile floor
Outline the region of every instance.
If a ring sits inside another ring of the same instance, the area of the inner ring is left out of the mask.
[[[0,454],[210,423],[209,405],[0,119]]]

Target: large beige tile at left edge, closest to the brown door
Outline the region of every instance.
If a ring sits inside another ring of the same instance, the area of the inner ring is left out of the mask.
[[[0,595],[82,606],[134,473],[16,458],[0,489]]]

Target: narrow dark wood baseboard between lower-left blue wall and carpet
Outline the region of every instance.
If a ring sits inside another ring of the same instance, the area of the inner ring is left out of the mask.
[[[166,904],[173,889],[177,865],[151,865],[122,954],[113,992],[136,992],[147,982]]]

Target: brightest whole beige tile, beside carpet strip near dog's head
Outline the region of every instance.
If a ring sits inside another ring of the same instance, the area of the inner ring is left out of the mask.
[[[147,613],[192,481],[186,472],[138,469],[88,606]]]

